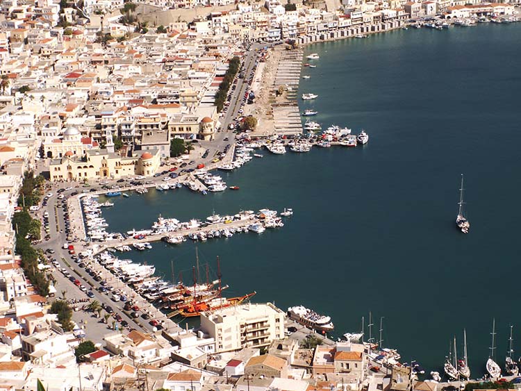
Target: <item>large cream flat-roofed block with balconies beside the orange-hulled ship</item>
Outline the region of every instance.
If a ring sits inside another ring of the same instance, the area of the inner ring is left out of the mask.
[[[266,347],[284,338],[284,317],[272,303],[247,303],[201,315],[201,329],[215,338],[217,353]]]

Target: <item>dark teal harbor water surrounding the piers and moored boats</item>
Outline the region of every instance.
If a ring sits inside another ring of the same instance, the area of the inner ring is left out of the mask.
[[[495,317],[503,366],[509,324],[515,358],[521,354],[520,39],[521,24],[479,25],[307,47],[320,60],[304,68],[311,78],[299,94],[319,97],[300,110],[316,109],[323,127],[365,128],[368,144],[263,151],[265,158],[220,173],[238,191],[113,198],[104,210],[108,231],[149,228],[160,214],[187,221],[213,210],[293,208],[283,228],[197,243],[201,278],[204,263],[215,276],[220,256],[226,295],[256,290],[254,301],[302,304],[331,315],[337,335],[360,331],[371,311],[376,338],[384,317],[383,346],[427,372],[441,369],[453,335],[461,356],[466,328],[472,377],[481,376]],[[455,226],[461,173],[468,235]],[[174,260],[175,274],[190,282],[195,246],[157,242],[123,256],[153,263],[167,278]]]

